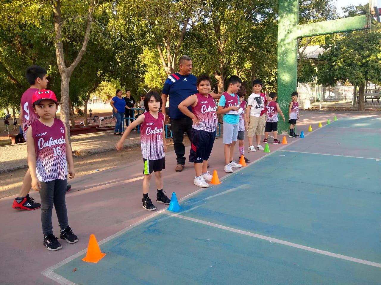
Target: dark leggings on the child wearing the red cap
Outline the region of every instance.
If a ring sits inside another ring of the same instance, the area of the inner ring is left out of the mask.
[[[49,182],[41,182],[41,223],[42,232],[46,236],[53,234],[53,226],[51,225],[51,213],[54,208],[58,218],[61,230],[67,228],[67,210],[66,210],[66,179],[56,179]]]

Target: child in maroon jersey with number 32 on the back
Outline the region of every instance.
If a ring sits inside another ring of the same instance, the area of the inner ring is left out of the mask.
[[[270,92],[269,99],[267,100],[266,105],[266,127],[263,142],[267,142],[267,138],[269,137],[269,133],[274,133],[274,141],[273,144],[280,144],[278,141],[278,113],[282,116],[283,122],[286,121],[285,116],[283,116],[283,112],[279,107],[279,104],[276,102],[277,93]]]

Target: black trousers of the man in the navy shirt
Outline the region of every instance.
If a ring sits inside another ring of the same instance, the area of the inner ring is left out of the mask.
[[[182,119],[171,119],[171,131],[173,138],[174,152],[176,153],[177,163],[185,165],[185,146],[182,143],[184,132],[187,132],[188,138],[192,135],[192,119],[185,117]]]

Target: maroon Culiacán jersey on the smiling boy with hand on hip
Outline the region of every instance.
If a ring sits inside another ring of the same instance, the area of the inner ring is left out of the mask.
[[[195,130],[214,132],[217,128],[216,103],[208,94],[208,97],[197,93],[197,104],[192,107],[192,112],[201,120],[200,125],[193,123]]]

